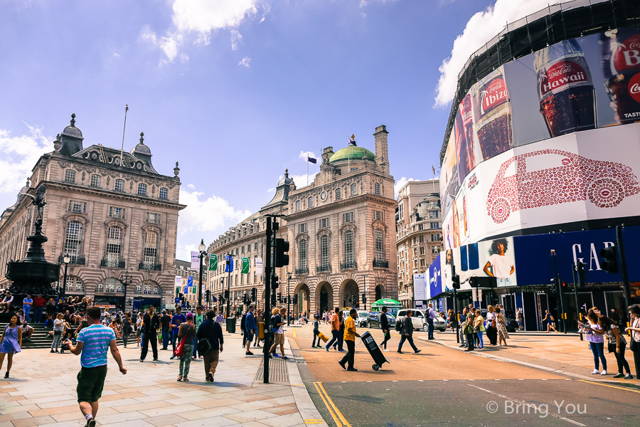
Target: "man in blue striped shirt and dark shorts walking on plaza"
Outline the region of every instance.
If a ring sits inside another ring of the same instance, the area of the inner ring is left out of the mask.
[[[82,369],[78,373],[78,404],[80,411],[85,416],[85,427],[95,427],[95,416],[98,409],[98,400],[102,396],[102,387],[105,386],[107,376],[107,348],[111,349],[111,355],[115,359],[122,374],[127,374],[127,369],[122,364],[122,357],[116,345],[116,337],[110,327],[100,324],[100,307],[87,309],[89,327],[85,327],[78,334],[77,344],[73,345],[70,339],[65,341],[70,351],[80,356]]]

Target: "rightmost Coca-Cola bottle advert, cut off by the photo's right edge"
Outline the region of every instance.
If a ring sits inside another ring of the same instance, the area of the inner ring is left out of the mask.
[[[640,28],[600,35],[604,87],[620,124],[640,121]]]

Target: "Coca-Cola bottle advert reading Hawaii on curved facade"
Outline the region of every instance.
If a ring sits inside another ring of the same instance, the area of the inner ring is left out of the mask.
[[[551,137],[597,126],[595,91],[585,54],[577,40],[535,52],[540,114]]]

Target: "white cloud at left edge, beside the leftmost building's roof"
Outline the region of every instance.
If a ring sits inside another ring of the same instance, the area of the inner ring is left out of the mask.
[[[39,127],[25,125],[28,133],[15,137],[8,130],[0,129],[0,198],[9,199],[10,204],[14,204],[15,200],[11,199],[31,176],[31,169],[41,155],[53,151],[53,137],[44,135]]]

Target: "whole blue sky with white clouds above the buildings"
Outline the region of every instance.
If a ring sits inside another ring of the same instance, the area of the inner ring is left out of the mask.
[[[548,3],[4,0],[0,210],[72,112],[85,147],[120,147],[125,104],[125,149],[144,132],[160,173],[180,162],[185,260],[352,133],[373,150],[386,125],[397,186],[430,179],[462,65]]]

